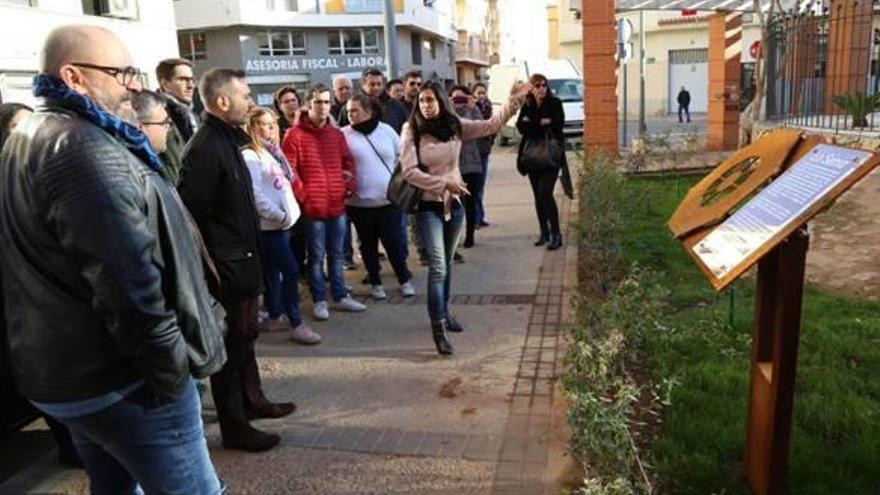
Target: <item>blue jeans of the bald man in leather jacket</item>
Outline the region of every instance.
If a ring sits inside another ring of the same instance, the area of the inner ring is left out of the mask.
[[[143,386],[106,409],[62,422],[94,495],[220,493],[195,380],[171,404],[156,405]]]

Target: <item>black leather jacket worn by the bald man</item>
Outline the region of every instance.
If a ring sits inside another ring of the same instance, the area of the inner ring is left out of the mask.
[[[222,310],[174,189],[63,102],[19,129],[0,156],[0,259],[22,395],[67,402],[145,380],[165,402],[218,371]]]

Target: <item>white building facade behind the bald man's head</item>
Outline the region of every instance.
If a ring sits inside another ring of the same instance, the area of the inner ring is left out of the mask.
[[[176,3],[176,2],[175,2]],[[0,101],[33,104],[46,36],[65,24],[115,32],[128,47],[143,83],[155,87],[156,64],[177,56],[172,0],[0,0]]]

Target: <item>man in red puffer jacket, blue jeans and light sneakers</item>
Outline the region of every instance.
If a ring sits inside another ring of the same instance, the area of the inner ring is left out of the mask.
[[[354,160],[342,131],[330,123],[330,90],[314,86],[306,101],[308,112],[288,131],[282,148],[298,178],[294,192],[302,205],[308,236],[312,315],[323,321],[330,318],[325,257],[333,309],[364,311],[367,307],[351,298],[342,274],[345,198],[355,188]]]

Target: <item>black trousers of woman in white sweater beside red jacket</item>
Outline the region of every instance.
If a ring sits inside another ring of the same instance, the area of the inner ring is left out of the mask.
[[[346,208],[354,227],[358,231],[361,241],[361,257],[367,269],[367,277],[370,285],[381,285],[382,278],[379,275],[379,241],[385,252],[388,253],[388,261],[397,276],[399,283],[409,282],[412,278],[409,268],[406,266],[406,237],[401,228],[403,224],[402,213],[393,205],[379,208],[361,208],[349,206]]]

